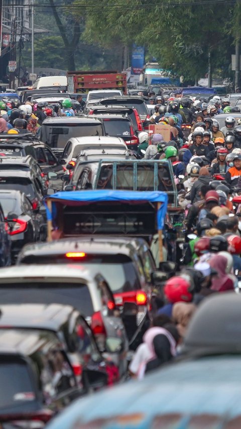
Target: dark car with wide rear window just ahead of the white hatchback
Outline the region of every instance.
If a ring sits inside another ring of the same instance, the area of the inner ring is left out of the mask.
[[[72,137],[102,136],[100,121],[80,117],[46,118],[43,121],[40,140],[51,148],[63,149]]]

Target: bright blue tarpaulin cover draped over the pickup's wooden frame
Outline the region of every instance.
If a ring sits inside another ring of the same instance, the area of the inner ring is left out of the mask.
[[[51,197],[47,197],[46,200],[52,201],[52,213],[55,212],[55,207],[53,207],[54,200],[62,204],[73,206],[104,201],[123,201],[130,204],[141,204],[147,202],[162,203],[157,212],[157,224],[158,229],[163,229],[164,218],[167,212],[168,195],[161,191],[109,191],[101,189],[97,191],[57,192],[56,194],[51,195]],[[54,215],[52,216],[52,213],[50,213],[47,204],[45,205],[47,219],[52,220]]]

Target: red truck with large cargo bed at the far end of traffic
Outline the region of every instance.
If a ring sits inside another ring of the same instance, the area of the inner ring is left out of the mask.
[[[127,74],[117,71],[68,71],[68,92],[87,94],[93,90],[121,90],[127,94]]]

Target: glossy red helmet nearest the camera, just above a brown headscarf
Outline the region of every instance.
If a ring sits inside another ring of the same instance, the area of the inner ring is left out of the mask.
[[[164,286],[164,294],[166,298],[174,303],[179,301],[192,301],[192,293],[190,292],[191,284],[180,276],[174,276],[169,279]]]

